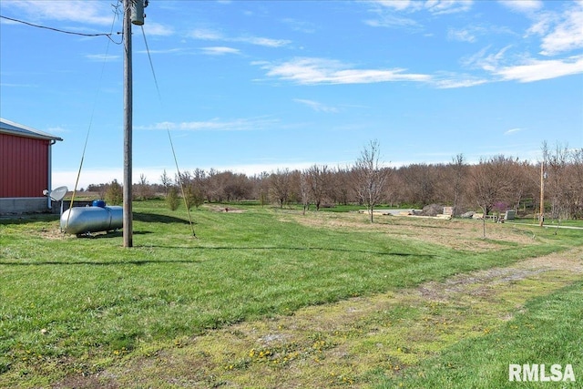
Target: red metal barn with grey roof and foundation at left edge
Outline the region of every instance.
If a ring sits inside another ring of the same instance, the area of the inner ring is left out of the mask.
[[[43,212],[51,188],[51,146],[62,138],[0,118],[0,214]]]

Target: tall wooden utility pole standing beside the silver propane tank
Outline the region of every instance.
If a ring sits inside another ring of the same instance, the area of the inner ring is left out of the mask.
[[[131,71],[131,10],[133,0],[124,0],[124,203],[123,235],[124,247],[133,246],[133,218],[131,210],[131,146],[132,146],[132,71]]]

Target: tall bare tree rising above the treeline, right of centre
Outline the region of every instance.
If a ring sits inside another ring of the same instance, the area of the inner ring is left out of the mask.
[[[380,202],[384,188],[390,174],[390,169],[384,169],[380,163],[380,145],[378,140],[371,140],[367,147],[363,148],[361,156],[354,164],[355,189],[358,196],[363,199],[366,209],[373,222],[374,207]]]

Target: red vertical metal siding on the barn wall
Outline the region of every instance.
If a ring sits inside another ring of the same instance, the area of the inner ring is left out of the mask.
[[[42,197],[50,140],[0,134],[0,198]]]

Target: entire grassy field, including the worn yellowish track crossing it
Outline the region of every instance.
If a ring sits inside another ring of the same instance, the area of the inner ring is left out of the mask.
[[[583,380],[583,230],[229,208],[192,212],[193,238],[136,202],[132,249],[0,220],[0,387],[525,387],[508,363]]]

